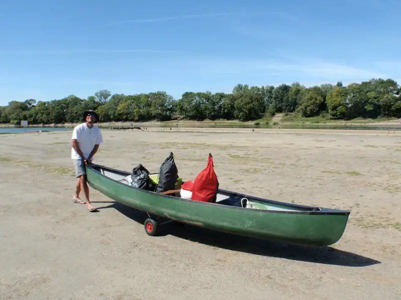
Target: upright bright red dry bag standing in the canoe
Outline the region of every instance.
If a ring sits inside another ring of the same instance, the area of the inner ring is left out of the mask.
[[[213,168],[213,157],[209,153],[208,165],[196,176],[192,187],[192,200],[216,202],[219,180]]]

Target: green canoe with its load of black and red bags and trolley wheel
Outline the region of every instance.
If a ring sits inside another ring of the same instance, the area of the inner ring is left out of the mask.
[[[87,164],[91,187],[115,201],[145,211],[145,231],[156,235],[162,218],[239,235],[327,246],[337,242],[349,211],[299,205],[219,188],[213,156],[193,180],[183,181],[173,153],[158,172],[142,164],[132,172]]]

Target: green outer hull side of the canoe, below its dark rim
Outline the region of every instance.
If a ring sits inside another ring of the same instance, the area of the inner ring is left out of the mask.
[[[172,220],[239,235],[313,246],[338,241],[349,212],[288,212],[246,209],[161,195],[110,179],[87,167],[94,189],[127,206]]]

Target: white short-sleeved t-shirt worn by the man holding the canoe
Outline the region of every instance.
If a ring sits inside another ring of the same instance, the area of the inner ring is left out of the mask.
[[[85,156],[84,159],[88,158],[89,154],[92,152],[93,147],[96,144],[100,144],[103,142],[102,133],[100,132],[99,127],[93,125],[92,128],[89,128],[86,123],[75,126],[74,131],[72,132],[71,139],[78,140],[78,146]],[[77,151],[75,151],[74,147],[71,148],[71,158],[81,158]]]

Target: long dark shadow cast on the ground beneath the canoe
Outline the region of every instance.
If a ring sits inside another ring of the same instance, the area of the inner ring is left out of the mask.
[[[146,212],[118,202],[114,203],[112,207],[141,224],[143,224],[145,219],[148,217]],[[286,259],[343,266],[368,266],[381,263],[381,261],[355,253],[338,250],[333,247],[300,246],[285,242],[219,232],[188,224],[177,226],[174,222],[169,222],[161,225],[159,230],[158,236],[170,234],[210,246],[263,256],[282,257]],[[143,230],[143,234],[146,234],[145,230]]]

